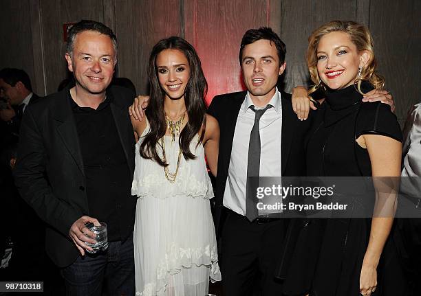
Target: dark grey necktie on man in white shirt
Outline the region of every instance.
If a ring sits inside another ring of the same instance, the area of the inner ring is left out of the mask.
[[[248,163],[247,163],[247,185],[246,185],[246,217],[253,221],[259,212],[257,210],[257,187],[259,187],[259,169],[260,169],[260,132],[259,122],[263,113],[272,105],[266,106],[265,109],[256,110],[255,106],[250,106],[255,111],[255,124],[253,124],[250,133],[250,141],[248,142]],[[254,178],[249,178],[254,177]]]

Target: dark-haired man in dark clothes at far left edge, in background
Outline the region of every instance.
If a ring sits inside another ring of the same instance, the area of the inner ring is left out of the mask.
[[[16,153],[19,141],[19,127],[23,113],[28,104],[39,101],[39,96],[32,92],[28,73],[21,69],[4,68],[0,70],[0,92],[7,104],[0,109],[1,118],[1,156],[0,183],[2,188],[2,220],[17,219],[16,227],[31,225],[28,235],[17,235],[10,225],[2,223],[2,234],[9,234],[13,242],[12,259],[10,260],[10,278],[14,280],[44,280],[40,269],[45,266],[44,260],[44,225],[34,210],[21,200],[12,179],[11,159]],[[5,229],[3,229],[5,228]],[[3,240],[0,241],[3,247]]]

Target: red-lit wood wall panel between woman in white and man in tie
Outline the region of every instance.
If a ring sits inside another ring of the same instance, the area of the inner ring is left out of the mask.
[[[250,28],[269,25],[270,1],[185,1],[185,38],[202,60],[208,80],[206,102],[220,93],[244,90],[238,53]]]

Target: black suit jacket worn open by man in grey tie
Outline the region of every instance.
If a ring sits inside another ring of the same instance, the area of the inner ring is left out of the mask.
[[[246,98],[246,91],[237,93],[227,93],[217,95],[213,98],[208,108],[208,113],[215,117],[219,122],[221,136],[219,139],[219,158],[218,171],[215,182],[215,229],[217,236],[222,234],[222,226],[226,214],[224,214],[223,198],[228,177],[228,168],[230,164],[231,150],[233,148],[233,139],[235,125],[241,104]],[[281,130],[281,172],[279,176],[299,177],[305,176],[305,135],[312,125],[312,114],[305,121],[296,117],[292,109],[291,95],[281,91],[282,105],[282,130]],[[247,161],[248,155],[244,155],[244,161]],[[276,177],[276,176],[274,176]],[[296,236],[306,225],[304,219],[285,219],[283,223],[283,245],[279,246],[279,270],[276,277],[285,280],[290,266],[290,258],[294,250]],[[219,251],[221,251],[219,244]],[[295,287],[294,287],[295,288]]]

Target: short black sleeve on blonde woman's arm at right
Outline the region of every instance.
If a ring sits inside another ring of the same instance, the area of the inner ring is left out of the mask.
[[[402,142],[402,131],[388,104],[363,103],[356,119],[356,139],[360,135],[383,135]]]

